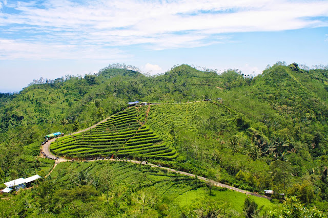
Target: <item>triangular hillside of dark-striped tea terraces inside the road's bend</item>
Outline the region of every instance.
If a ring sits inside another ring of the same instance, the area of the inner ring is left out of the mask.
[[[145,124],[147,107],[131,107],[86,132],[66,136],[51,143],[53,154],[64,157],[144,157],[174,159],[170,143]]]

